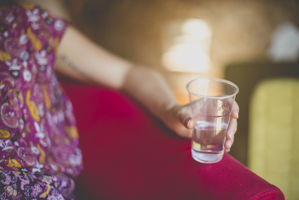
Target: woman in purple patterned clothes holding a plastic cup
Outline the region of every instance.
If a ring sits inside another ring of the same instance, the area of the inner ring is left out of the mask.
[[[177,104],[157,72],[107,52],[35,4],[10,3],[0,10],[1,199],[75,199],[82,155],[72,105],[54,70],[124,90],[177,135],[191,137],[190,107]],[[225,152],[238,111],[235,104]]]

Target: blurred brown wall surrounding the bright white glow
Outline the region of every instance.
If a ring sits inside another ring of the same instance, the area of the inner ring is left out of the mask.
[[[77,28],[106,49],[161,72],[181,104],[188,103],[185,85],[189,80],[224,78],[225,67],[231,63],[266,62],[274,29],[284,22],[299,27],[295,0],[65,1]],[[170,37],[167,25],[188,18],[210,25],[210,63],[202,73],[173,72],[162,61],[165,37]]]

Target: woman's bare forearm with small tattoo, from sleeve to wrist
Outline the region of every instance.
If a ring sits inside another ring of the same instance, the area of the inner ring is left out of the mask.
[[[62,38],[55,69],[78,81],[120,89],[131,65],[69,27]]]

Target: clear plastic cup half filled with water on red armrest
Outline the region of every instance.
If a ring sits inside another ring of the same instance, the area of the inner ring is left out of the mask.
[[[215,78],[195,79],[186,88],[195,122],[192,157],[201,163],[216,163],[224,153],[225,134],[239,88]]]

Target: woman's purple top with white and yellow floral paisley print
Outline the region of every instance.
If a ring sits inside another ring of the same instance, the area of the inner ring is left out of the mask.
[[[66,28],[34,4],[0,8],[2,170],[77,177],[83,169],[73,107],[54,74]]]

